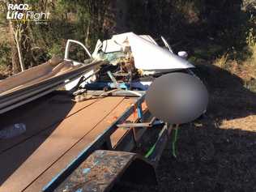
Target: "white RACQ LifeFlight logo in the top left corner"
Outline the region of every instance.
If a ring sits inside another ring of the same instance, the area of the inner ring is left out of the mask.
[[[49,12],[32,11],[32,6],[28,4],[8,4],[6,19],[15,19],[26,21],[45,22],[49,19]]]

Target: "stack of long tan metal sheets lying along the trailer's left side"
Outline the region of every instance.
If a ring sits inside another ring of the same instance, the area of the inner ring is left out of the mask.
[[[2,80],[0,81],[0,114],[45,96],[103,63],[93,61],[86,66],[75,66],[72,62],[52,58],[40,66]]]

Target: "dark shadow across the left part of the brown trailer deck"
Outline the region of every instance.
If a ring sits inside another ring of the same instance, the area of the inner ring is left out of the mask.
[[[11,139],[0,139],[0,186],[41,147],[75,105],[65,95],[58,96],[57,93],[0,115],[0,130],[15,123],[26,125],[25,133]]]

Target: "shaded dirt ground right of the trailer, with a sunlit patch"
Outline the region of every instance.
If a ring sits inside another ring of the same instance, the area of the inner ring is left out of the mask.
[[[211,72],[210,72],[211,71]],[[201,68],[210,92],[206,117],[181,126],[157,169],[157,191],[256,191],[256,93],[217,68]]]

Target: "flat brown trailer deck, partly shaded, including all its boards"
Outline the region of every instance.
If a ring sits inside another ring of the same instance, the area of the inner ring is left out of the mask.
[[[40,191],[135,100],[106,97],[72,103],[60,97],[34,101],[25,114],[18,109],[6,114],[7,123],[22,121],[28,129],[0,147],[1,192]]]

